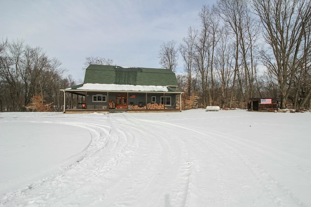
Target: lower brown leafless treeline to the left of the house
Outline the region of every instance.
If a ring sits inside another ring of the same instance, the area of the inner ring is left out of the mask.
[[[61,111],[64,98],[59,89],[75,85],[71,76],[63,78],[63,72],[59,60],[49,58],[42,48],[32,48],[21,40],[2,40],[0,111],[27,111],[37,94],[52,103],[52,111]]]

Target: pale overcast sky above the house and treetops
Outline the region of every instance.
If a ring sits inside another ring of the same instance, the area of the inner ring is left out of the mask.
[[[23,40],[56,57],[79,82],[86,57],[160,68],[160,45],[177,46],[198,12],[216,0],[0,0],[0,38]],[[179,57],[177,71],[182,71]]]

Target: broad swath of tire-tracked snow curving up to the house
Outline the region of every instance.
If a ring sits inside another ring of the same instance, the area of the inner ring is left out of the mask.
[[[9,192],[0,204],[301,206],[236,147],[240,143],[230,142],[231,135],[125,113],[59,123],[90,131],[85,155],[57,174]]]

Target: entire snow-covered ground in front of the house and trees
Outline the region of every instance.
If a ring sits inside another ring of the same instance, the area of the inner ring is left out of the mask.
[[[311,206],[311,112],[0,113],[0,206]]]

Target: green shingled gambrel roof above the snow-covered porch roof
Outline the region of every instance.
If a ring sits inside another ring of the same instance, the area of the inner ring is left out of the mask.
[[[177,86],[171,70],[95,64],[86,68],[84,83]]]

